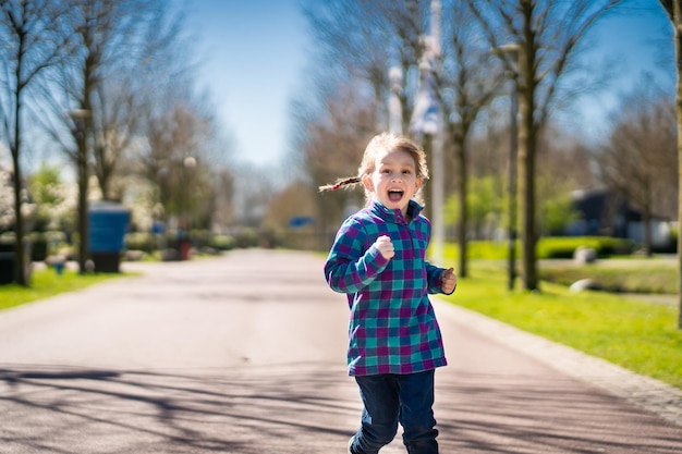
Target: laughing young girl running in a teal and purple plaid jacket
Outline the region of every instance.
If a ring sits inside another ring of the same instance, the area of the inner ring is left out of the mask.
[[[374,137],[357,176],[320,191],[362,183],[367,206],[348,218],[325,263],[336,292],[348,295],[349,375],[363,402],[351,454],[376,454],[403,427],[410,454],[437,454],[434,370],[446,366],[428,293],[451,294],[450,269],[425,259],[431,226],[413,198],[428,177],[424,151],[389,133]]]

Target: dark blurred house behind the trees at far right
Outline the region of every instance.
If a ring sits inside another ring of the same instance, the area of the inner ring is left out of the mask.
[[[628,200],[608,189],[575,191],[571,194],[580,219],[565,229],[570,236],[611,236],[644,243],[642,212]],[[668,249],[673,246],[671,222],[660,216],[651,217],[651,246]]]

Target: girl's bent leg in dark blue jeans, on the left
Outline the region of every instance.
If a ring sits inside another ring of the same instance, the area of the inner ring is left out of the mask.
[[[349,446],[351,454],[377,454],[398,432],[400,400],[397,376],[356,377],[363,401],[362,426]]]

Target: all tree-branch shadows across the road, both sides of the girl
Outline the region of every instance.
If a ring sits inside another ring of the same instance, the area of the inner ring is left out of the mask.
[[[328,370],[320,373],[319,370]],[[444,453],[680,452],[680,430],[570,379],[437,375]],[[528,382],[536,382],[527,388]],[[337,364],[230,369],[0,369],[3,453],[343,453],[357,424],[355,385]],[[614,425],[629,419],[640,430]],[[654,429],[656,434],[649,433]],[[650,426],[650,427],[649,427]],[[31,427],[31,430],[26,430]],[[397,439],[383,453],[402,453]]]

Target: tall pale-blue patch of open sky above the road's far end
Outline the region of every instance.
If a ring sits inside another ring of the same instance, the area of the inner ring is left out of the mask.
[[[234,139],[234,157],[276,163],[288,151],[289,102],[307,48],[299,0],[190,0],[200,81]]]

